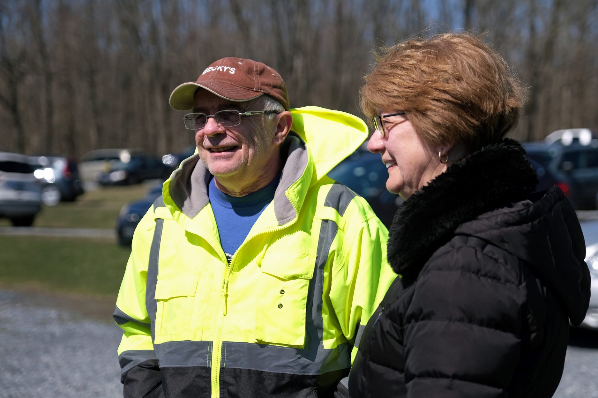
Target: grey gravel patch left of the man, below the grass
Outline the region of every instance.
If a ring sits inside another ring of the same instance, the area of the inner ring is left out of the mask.
[[[121,397],[115,325],[0,290],[0,397]]]

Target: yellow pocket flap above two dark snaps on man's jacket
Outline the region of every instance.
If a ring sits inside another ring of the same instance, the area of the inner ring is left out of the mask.
[[[309,252],[268,253],[261,261],[263,273],[279,279],[312,279],[316,256]]]

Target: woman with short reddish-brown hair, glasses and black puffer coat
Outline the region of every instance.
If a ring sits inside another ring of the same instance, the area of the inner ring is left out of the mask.
[[[590,297],[585,244],[558,187],[538,183],[517,141],[523,88],[466,33],[410,39],[361,91],[368,149],[406,199],[388,258],[400,275],[371,317],[352,397],[550,397],[569,320]]]

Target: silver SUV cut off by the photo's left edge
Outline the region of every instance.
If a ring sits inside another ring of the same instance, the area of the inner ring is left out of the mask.
[[[0,217],[13,226],[29,227],[41,210],[41,184],[33,175],[29,157],[0,152]]]

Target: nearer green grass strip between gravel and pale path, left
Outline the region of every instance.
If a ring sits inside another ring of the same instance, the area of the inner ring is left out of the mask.
[[[112,239],[3,235],[0,282],[116,297],[129,252]]]

